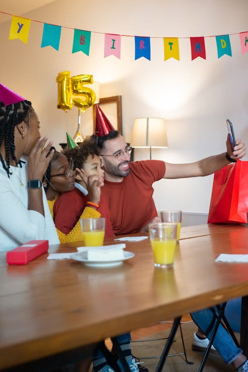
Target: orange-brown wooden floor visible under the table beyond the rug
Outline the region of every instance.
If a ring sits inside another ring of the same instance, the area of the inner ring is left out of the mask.
[[[181,320],[181,322],[191,322],[191,321],[192,321],[192,319],[191,319],[191,316],[189,314],[184,315],[182,317],[182,320]],[[150,336],[150,335],[153,335],[155,333],[158,333],[158,332],[162,332],[165,329],[171,328],[172,323],[173,323],[173,319],[169,319],[164,323],[156,323],[156,324],[153,324],[149,327],[137,328],[137,329],[131,331],[131,338],[134,341],[134,340],[138,340],[142,337],[146,337],[146,336]],[[111,342],[110,339],[106,340],[106,345],[109,349],[112,348],[112,342]]]

